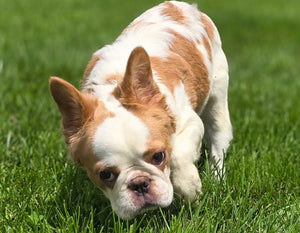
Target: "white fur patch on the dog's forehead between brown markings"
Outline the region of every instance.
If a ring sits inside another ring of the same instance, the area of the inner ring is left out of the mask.
[[[109,104],[106,106],[111,110]],[[115,116],[105,119],[96,131],[94,153],[108,167],[116,164],[121,167],[129,166],[129,161],[139,161],[142,158],[146,150],[148,128],[138,117],[121,106],[115,106],[113,113]]]

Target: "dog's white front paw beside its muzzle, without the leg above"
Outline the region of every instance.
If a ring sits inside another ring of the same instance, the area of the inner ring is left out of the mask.
[[[194,201],[198,194],[202,194],[202,183],[194,164],[173,167],[172,183],[175,193],[182,195],[187,201]]]

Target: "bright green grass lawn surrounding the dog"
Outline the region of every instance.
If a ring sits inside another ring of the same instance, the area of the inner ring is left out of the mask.
[[[68,160],[48,79],[79,87],[91,54],[158,1],[0,0],[0,232],[300,231],[300,2],[196,2],[229,61],[226,182],[205,160],[198,206],[122,221]]]

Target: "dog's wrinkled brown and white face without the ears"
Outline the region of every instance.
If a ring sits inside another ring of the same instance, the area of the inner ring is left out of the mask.
[[[80,151],[89,157],[81,159],[88,176],[121,218],[132,218],[156,206],[166,207],[172,201],[171,138],[159,133],[165,130],[162,122],[153,123],[155,128],[149,129],[140,118],[119,108],[89,138],[87,145],[92,148]]]

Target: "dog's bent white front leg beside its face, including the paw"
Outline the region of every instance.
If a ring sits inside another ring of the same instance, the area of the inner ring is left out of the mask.
[[[171,159],[174,191],[186,200],[194,200],[201,193],[201,180],[195,162],[200,156],[204,125],[193,111],[185,112],[177,124]]]

